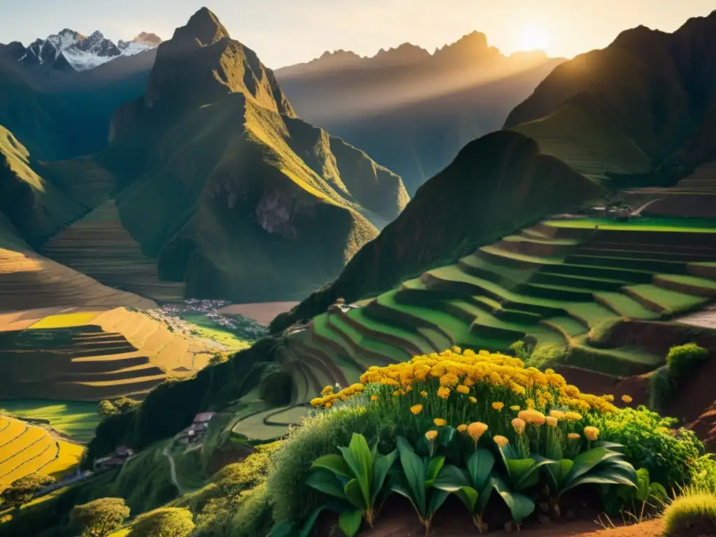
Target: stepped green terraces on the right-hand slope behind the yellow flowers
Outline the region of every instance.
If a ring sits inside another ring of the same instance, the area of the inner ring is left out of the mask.
[[[507,351],[523,339],[533,357],[556,349],[553,365],[615,382],[652,371],[664,357],[596,348],[591,334],[619,319],[699,309],[716,294],[715,266],[716,224],[702,219],[544,221],[360,305],[316,316],[291,336],[292,406],[253,413],[234,430],[274,437],[324,385],[452,345]]]

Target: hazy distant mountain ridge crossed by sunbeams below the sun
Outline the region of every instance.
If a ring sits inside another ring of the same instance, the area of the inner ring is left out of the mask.
[[[412,194],[562,61],[505,57],[473,32],[434,54],[407,43],[369,58],[326,52],[276,77],[301,117],[364,147]]]

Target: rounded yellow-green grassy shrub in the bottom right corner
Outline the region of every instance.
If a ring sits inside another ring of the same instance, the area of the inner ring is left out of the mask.
[[[668,537],[713,535],[716,532],[716,494],[686,489],[664,511],[664,533]]]

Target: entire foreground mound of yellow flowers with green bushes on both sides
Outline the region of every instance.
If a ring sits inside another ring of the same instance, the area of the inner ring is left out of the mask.
[[[705,457],[702,445],[691,432],[670,430],[672,421],[644,407],[619,410],[613,405],[613,397],[582,394],[566,384],[561,375],[549,369],[546,372],[526,369],[523,362],[514,357],[482,351],[479,354],[469,350],[462,352],[455,348],[415,357],[403,364],[371,367],[361,382],[338,393],[326,387],[321,397],[311,401],[324,410],[291,431],[276,453],[275,465],[267,480],[276,521],[305,521],[316,507],[327,505],[326,494],[311,490],[316,484],[317,490],[333,490],[339,502],[349,501],[352,508],[358,510],[357,519],[352,518],[353,515],[344,518],[347,534],[357,531],[361,516],[370,520],[371,505],[366,506],[350,495],[344,498],[339,492],[343,490],[344,480],[349,480],[354,473],[357,475],[357,470],[351,468],[351,473],[342,478],[347,470],[340,470],[344,465],[338,460],[347,458],[346,448],[342,448],[341,454],[339,448],[349,445],[354,432],[361,433],[378,453],[390,454],[398,446],[402,462],[395,463],[391,470],[397,473],[398,479],[392,481],[392,490],[413,495],[416,492],[412,485],[410,490],[405,486],[423,483],[422,477],[411,480],[407,470],[408,467],[420,468],[422,462],[416,466],[403,462],[404,458],[418,457],[417,461],[422,460],[420,457],[427,460],[445,457],[440,465],[436,462],[435,475],[425,468],[426,475],[437,478],[435,485],[425,490],[428,499],[431,495],[440,495],[435,488],[448,494],[469,486],[477,492],[475,498],[482,494],[486,501],[490,495],[480,487],[494,487],[498,494],[493,496],[505,498],[513,523],[517,525],[536,508],[530,496],[537,490],[534,487],[547,484],[542,483],[543,479],[553,480],[548,483],[551,483],[549,490],[556,494],[551,498],[554,503],[559,491],[571,486],[569,483],[581,483],[581,478],[569,478],[569,468],[571,465],[581,468],[587,459],[576,455],[587,450],[595,450],[584,456],[601,461],[594,468],[599,470],[600,479],[614,483],[610,486],[620,483],[619,486],[627,485],[628,489],[629,483],[637,482],[634,468],[643,468],[640,471],[644,475],[650,475],[652,482],[667,489],[694,482],[696,469],[716,475],[716,462]],[[410,455],[412,452],[417,455]],[[609,455],[611,452],[614,453]],[[480,460],[497,461],[488,465],[483,478],[493,477],[487,481],[465,473],[465,465],[471,464],[467,461],[477,453]],[[546,473],[542,473],[537,470],[541,465],[535,466],[535,461],[543,459],[536,455],[553,461],[544,463],[546,465],[561,461],[559,468],[566,470],[545,468]],[[319,467],[311,469],[314,462]],[[445,468],[447,473],[443,475],[440,468]],[[585,476],[592,466],[589,468]],[[324,470],[339,473],[330,478]],[[401,472],[405,472],[402,478],[405,486],[400,485]],[[318,473],[321,474],[318,478],[312,477]],[[531,477],[528,479],[525,475]],[[579,475],[583,475],[581,470]],[[337,488],[328,489],[321,484],[335,478]],[[463,498],[460,494],[458,497],[468,504],[472,498],[470,495]],[[614,494],[604,495],[605,500],[610,497]],[[620,498],[623,499],[621,505],[627,505],[624,502],[629,495],[622,494]],[[435,505],[444,500],[436,499]],[[429,526],[434,511],[425,511],[425,506],[421,508],[419,496],[415,496],[414,503],[421,521]],[[478,505],[479,502],[471,503],[468,508],[475,524],[482,527],[480,509],[484,510],[485,505]]]

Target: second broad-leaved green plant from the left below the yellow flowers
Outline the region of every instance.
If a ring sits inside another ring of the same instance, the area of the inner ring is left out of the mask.
[[[391,490],[410,500],[425,531],[430,531],[432,517],[445,503],[450,489],[463,488],[464,483],[454,466],[443,468],[445,457],[421,458],[405,437],[397,437],[397,451],[402,472],[393,473]],[[448,473],[455,473],[458,480],[450,483]],[[434,486],[436,481],[442,483],[442,488]]]

